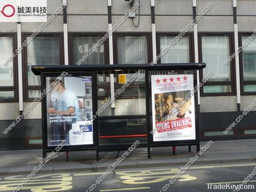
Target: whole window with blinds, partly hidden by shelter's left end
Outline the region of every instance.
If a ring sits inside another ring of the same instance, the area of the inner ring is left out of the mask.
[[[25,35],[25,38],[30,35]],[[39,35],[28,44],[25,53],[26,98],[32,100],[40,95],[40,76],[31,71],[32,65],[59,65],[62,62],[61,35]]]

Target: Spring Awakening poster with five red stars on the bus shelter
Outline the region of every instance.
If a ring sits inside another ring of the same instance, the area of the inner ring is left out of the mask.
[[[152,75],[151,86],[153,141],[196,139],[193,74]]]

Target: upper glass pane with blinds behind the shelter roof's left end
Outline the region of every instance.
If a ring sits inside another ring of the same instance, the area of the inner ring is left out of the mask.
[[[60,40],[58,37],[36,37],[27,47],[28,85],[40,85],[40,76],[35,76],[31,65],[60,64]]]

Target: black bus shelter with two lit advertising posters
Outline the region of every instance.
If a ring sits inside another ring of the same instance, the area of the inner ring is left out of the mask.
[[[41,80],[43,157],[199,144],[197,70],[205,63],[34,65]],[[191,148],[190,148],[191,149]]]

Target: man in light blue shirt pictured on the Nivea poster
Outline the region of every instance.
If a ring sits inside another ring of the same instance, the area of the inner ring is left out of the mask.
[[[54,79],[51,83],[56,83]],[[54,86],[51,94],[51,108],[48,109],[52,125],[52,145],[58,145],[66,140],[69,145],[69,130],[72,123],[81,121],[80,104],[76,95],[66,89],[64,82],[60,81]]]

